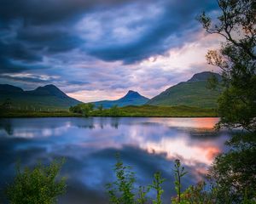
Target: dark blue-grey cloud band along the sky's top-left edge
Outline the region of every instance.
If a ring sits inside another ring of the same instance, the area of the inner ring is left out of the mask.
[[[99,5],[119,4],[129,0],[0,0],[0,19],[24,19],[24,23],[48,24],[66,20]]]

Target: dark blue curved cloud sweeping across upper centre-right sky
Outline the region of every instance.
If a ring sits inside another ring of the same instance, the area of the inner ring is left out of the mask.
[[[160,2],[158,4],[158,2]],[[183,46],[185,42],[195,40],[193,34],[199,30],[199,23],[195,16],[201,10],[212,10],[215,3],[209,1],[156,1],[156,7],[162,7],[161,14],[154,20],[142,20],[140,25],[148,25],[147,31],[142,33],[137,41],[120,43],[108,47],[99,46],[89,50],[89,53],[108,61],[123,60],[127,64],[146,59],[155,54],[164,54],[170,48]],[[136,9],[136,8],[133,8]],[[143,9],[143,8],[141,8]],[[132,29],[132,28],[131,28]],[[105,41],[108,41],[108,36]]]

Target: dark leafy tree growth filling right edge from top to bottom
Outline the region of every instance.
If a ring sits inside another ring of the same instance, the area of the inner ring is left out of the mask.
[[[217,156],[209,178],[218,203],[255,202],[256,134],[256,2],[218,0],[218,23],[202,13],[208,33],[224,37],[221,48],[210,50],[207,61],[222,70],[224,93],[218,99],[217,127],[242,127],[246,133],[227,142],[230,151]]]

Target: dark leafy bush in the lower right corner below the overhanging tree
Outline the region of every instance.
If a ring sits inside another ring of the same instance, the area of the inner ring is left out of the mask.
[[[237,133],[227,144],[230,151],[217,156],[208,175],[216,186],[218,200],[252,201],[256,199],[256,135]]]

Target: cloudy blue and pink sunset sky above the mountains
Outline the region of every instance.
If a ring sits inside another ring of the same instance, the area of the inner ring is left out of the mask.
[[[215,0],[0,0],[0,83],[54,84],[84,102],[152,98],[207,65]]]

